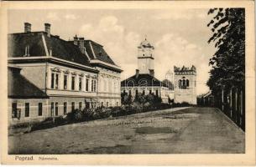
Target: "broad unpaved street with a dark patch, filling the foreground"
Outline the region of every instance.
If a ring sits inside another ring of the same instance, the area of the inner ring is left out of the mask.
[[[218,109],[175,108],[8,136],[9,154],[244,153],[245,134]]]

